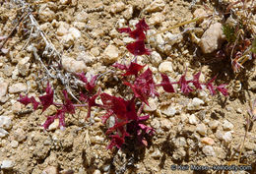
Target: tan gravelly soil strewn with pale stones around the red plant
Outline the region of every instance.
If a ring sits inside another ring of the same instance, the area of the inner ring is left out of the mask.
[[[222,12],[228,5],[227,1],[219,3],[0,1],[2,40],[22,20],[0,54],[0,173],[173,173],[173,165],[244,165],[251,170],[242,173],[254,173],[255,125],[248,129],[245,141],[244,136],[249,103],[256,98],[256,61],[247,61],[244,69],[234,74],[227,61],[215,57],[224,43]],[[234,9],[242,19],[246,7],[240,6]],[[151,36],[214,13],[211,18]],[[114,62],[127,63],[134,58],[125,47],[134,40],[117,29],[134,28],[143,18],[150,26],[146,46],[152,52],[138,56],[137,62],[148,65],[156,82],[160,83],[160,73],[176,81],[187,67],[187,79],[201,71],[200,81],[207,83],[218,75],[217,84],[227,84],[229,95],[212,96],[208,90],[184,95],[158,88],[160,97],[150,98],[150,107],[145,106],[143,111],[150,114],[146,125],[156,130],[146,147],[127,142],[121,149],[106,149],[109,139],[100,119],[104,110],[99,108],[93,108],[86,121],[87,109],[67,115],[64,131],[58,128],[57,120],[48,131],[43,130],[40,125],[45,116],[54,114],[56,108],[49,107],[42,114],[40,109],[33,111],[32,105],[18,101],[20,94],[39,96],[50,82],[56,100],[64,88],[78,96],[73,73],[85,72],[89,78],[106,74],[97,85],[104,92],[118,95],[117,82],[108,72],[114,70]],[[255,10],[249,21],[255,34]],[[60,69],[58,61],[62,62]],[[194,172],[184,170],[175,173]]]

